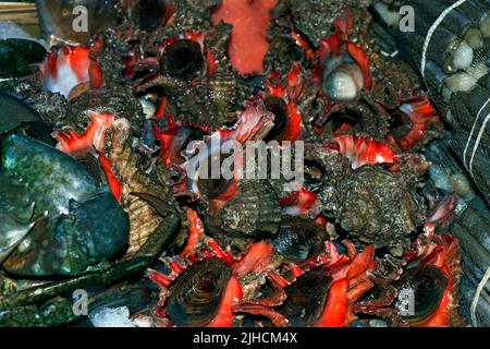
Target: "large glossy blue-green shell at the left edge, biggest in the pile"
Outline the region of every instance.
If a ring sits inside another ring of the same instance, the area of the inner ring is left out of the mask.
[[[1,173],[25,183],[34,205],[29,220],[38,218],[3,263],[9,273],[73,276],[124,252],[127,215],[109,188],[100,185],[70,156],[13,135],[3,143]]]

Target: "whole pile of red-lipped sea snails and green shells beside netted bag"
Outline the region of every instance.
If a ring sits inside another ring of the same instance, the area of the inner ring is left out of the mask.
[[[0,325],[485,324],[487,206],[388,3],[37,1],[49,49],[0,40]],[[257,141],[304,180],[201,176]]]

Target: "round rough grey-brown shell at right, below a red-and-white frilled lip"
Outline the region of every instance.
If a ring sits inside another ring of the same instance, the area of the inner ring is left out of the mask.
[[[381,166],[364,166],[340,185],[338,220],[364,243],[400,253],[409,233],[425,220],[425,205],[416,183]]]

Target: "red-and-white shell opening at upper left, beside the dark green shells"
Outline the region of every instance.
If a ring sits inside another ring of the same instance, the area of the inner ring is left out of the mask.
[[[93,47],[65,46],[50,52],[40,67],[44,88],[68,97],[74,87],[82,84],[101,87],[103,72],[90,56],[94,51]]]

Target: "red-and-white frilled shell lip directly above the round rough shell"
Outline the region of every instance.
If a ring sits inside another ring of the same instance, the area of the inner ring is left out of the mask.
[[[393,164],[395,161],[396,152],[379,141],[351,134],[334,137],[333,141],[336,145],[329,145],[329,147],[347,157],[353,169],[368,164]]]

